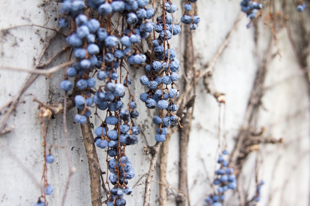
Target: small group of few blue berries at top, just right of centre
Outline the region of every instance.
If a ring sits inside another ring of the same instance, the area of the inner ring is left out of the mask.
[[[181,18],[182,23],[189,24],[190,30],[197,29],[197,24],[200,22],[200,18],[197,15],[196,8],[194,9],[195,11],[193,12],[193,14],[191,13],[191,10],[193,8],[191,3],[195,4],[195,2],[197,2],[197,0],[188,0],[188,2],[184,5],[185,12]]]

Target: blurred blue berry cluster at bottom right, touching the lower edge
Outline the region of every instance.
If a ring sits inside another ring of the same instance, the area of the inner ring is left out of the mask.
[[[227,150],[224,150],[222,154],[227,155]],[[213,184],[218,185],[217,193],[211,194],[206,198],[206,204],[210,206],[222,206],[222,202],[225,199],[225,191],[237,188],[237,179],[234,174],[234,169],[229,166],[228,160],[224,160],[223,155],[219,155],[217,163],[220,164],[220,168],[215,171],[216,178],[213,180]]]

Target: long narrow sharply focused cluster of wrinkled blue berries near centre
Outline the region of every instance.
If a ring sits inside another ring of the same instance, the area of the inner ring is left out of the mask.
[[[154,28],[159,35],[152,42],[153,52],[156,53],[159,61],[152,61],[151,64],[146,65],[145,71],[148,75],[143,75],[140,78],[140,83],[148,88],[147,92],[140,94],[140,100],[149,109],[157,107],[161,110],[160,115],[153,118],[153,122],[159,125],[155,136],[155,140],[158,142],[166,140],[168,133],[166,127],[179,122],[179,117],[172,112],[178,109],[173,100],[179,96],[179,90],[174,87],[175,82],[179,79],[176,72],[179,70],[180,64],[179,60],[175,58],[175,50],[169,47],[165,48],[165,45],[169,45],[168,40],[171,39],[171,36],[177,35],[181,31],[179,25],[173,24],[172,16],[167,14],[175,11],[174,4],[164,3],[163,14],[157,17],[157,24]],[[171,88],[168,85],[171,85]]]

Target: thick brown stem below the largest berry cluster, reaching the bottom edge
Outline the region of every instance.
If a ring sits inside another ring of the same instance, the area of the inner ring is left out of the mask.
[[[81,129],[91,178],[91,204],[92,206],[101,206],[100,164],[94,144],[94,137],[91,133],[91,123],[88,118],[86,123],[81,124]]]

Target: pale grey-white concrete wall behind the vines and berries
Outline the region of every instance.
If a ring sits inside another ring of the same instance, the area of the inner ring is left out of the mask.
[[[6,29],[19,25],[36,24],[45,27],[57,27],[61,5],[56,2],[41,4],[38,1],[8,1],[2,0],[0,12],[0,28]],[[178,7],[179,1],[174,1]],[[239,0],[233,1],[202,1],[197,2],[198,15],[201,22],[193,32],[194,52],[197,57],[197,69],[210,62],[217,49],[225,40],[227,33],[238,18]],[[180,7],[179,7],[180,8]],[[308,11],[303,14],[306,17]],[[294,13],[295,15],[296,12]],[[175,14],[180,19],[181,12]],[[296,18],[296,16],[292,17]],[[300,16],[298,16],[300,18]],[[178,20],[177,20],[178,21]],[[221,140],[223,134],[227,138],[228,151],[232,152],[236,137],[244,120],[246,107],[253,89],[255,75],[262,58],[267,51],[270,31],[259,21],[258,44],[254,41],[254,27],[247,29],[249,20],[243,15],[235,27],[231,41],[215,64],[212,83],[214,88],[225,94],[226,106],[219,108],[215,98],[207,94],[202,80],[197,82],[197,98],[195,101],[191,135],[188,143],[188,187],[191,205],[204,205],[204,199],[213,190],[208,179],[213,179],[217,168],[215,159],[218,156],[218,117],[221,110]],[[307,27],[309,30],[309,27]],[[66,32],[65,30],[63,32]],[[299,32],[299,31],[296,31]],[[33,68],[49,36],[53,31],[36,27],[18,27],[2,32],[1,36],[1,66],[16,68]],[[173,39],[173,48],[178,48],[181,59],[181,39]],[[277,47],[282,57],[276,56],[267,65],[268,72],[264,85],[262,105],[255,123],[255,128],[264,127],[264,137],[283,138],[284,143],[275,145],[259,145],[260,151],[253,152],[248,158],[241,178],[243,189],[249,192],[249,198],[254,194],[255,158],[260,161],[259,179],[265,181],[262,187],[261,201],[257,205],[309,205],[309,90],[308,82],[299,68],[291,48],[287,32],[284,28],[277,33]],[[274,42],[272,41],[272,44]],[[65,46],[64,37],[57,35],[44,54],[43,61],[52,57]],[[276,53],[274,46],[272,54]],[[66,53],[51,62],[52,67],[66,61]],[[308,67],[306,68],[308,69]],[[148,172],[150,156],[143,152],[143,146],[154,145],[155,126],[151,124],[150,116],[155,110],[148,110],[139,99],[139,94],[145,88],[139,84],[143,69],[133,69],[131,79],[134,81],[131,92],[134,92],[140,117],[136,124],[143,128],[145,138],[140,135],[138,144],[127,147],[126,155],[133,162],[136,176],[128,183],[135,186],[133,193],[126,198],[127,205],[142,205],[144,197],[144,175]],[[59,83],[63,79],[64,69],[51,77],[39,75],[29,89],[19,99],[19,105],[12,111],[7,126],[15,129],[0,138],[0,202],[1,205],[33,205],[41,195],[40,183],[44,165],[42,147],[42,125],[38,116],[36,97],[42,102],[55,102],[63,99],[63,91]],[[183,73],[182,69],[179,72]],[[0,107],[18,95],[20,88],[29,73],[13,70],[0,70]],[[181,91],[182,92],[182,91]],[[1,111],[1,120],[8,111]],[[72,166],[76,168],[65,205],[91,205],[89,172],[82,133],[79,124],[74,122],[74,108],[67,114],[69,129],[69,152]],[[96,128],[101,124],[96,116],[91,123]],[[223,124],[225,127],[223,127]],[[62,116],[57,116],[49,122],[47,144],[64,145]],[[147,142],[146,142],[147,140]],[[179,174],[179,137],[175,133],[169,143],[167,182],[172,188],[178,187]],[[60,205],[64,187],[69,175],[65,149],[53,147],[55,162],[48,165],[48,181],[53,184],[54,192],[47,197],[49,205]],[[106,170],[106,153],[98,150],[102,170]],[[24,169],[27,168],[29,173]],[[158,181],[159,169],[155,170],[154,180]],[[168,205],[175,205],[176,190],[171,189]],[[151,204],[159,205],[158,183],[152,183]],[[227,195],[226,205],[238,205],[236,195]]]

